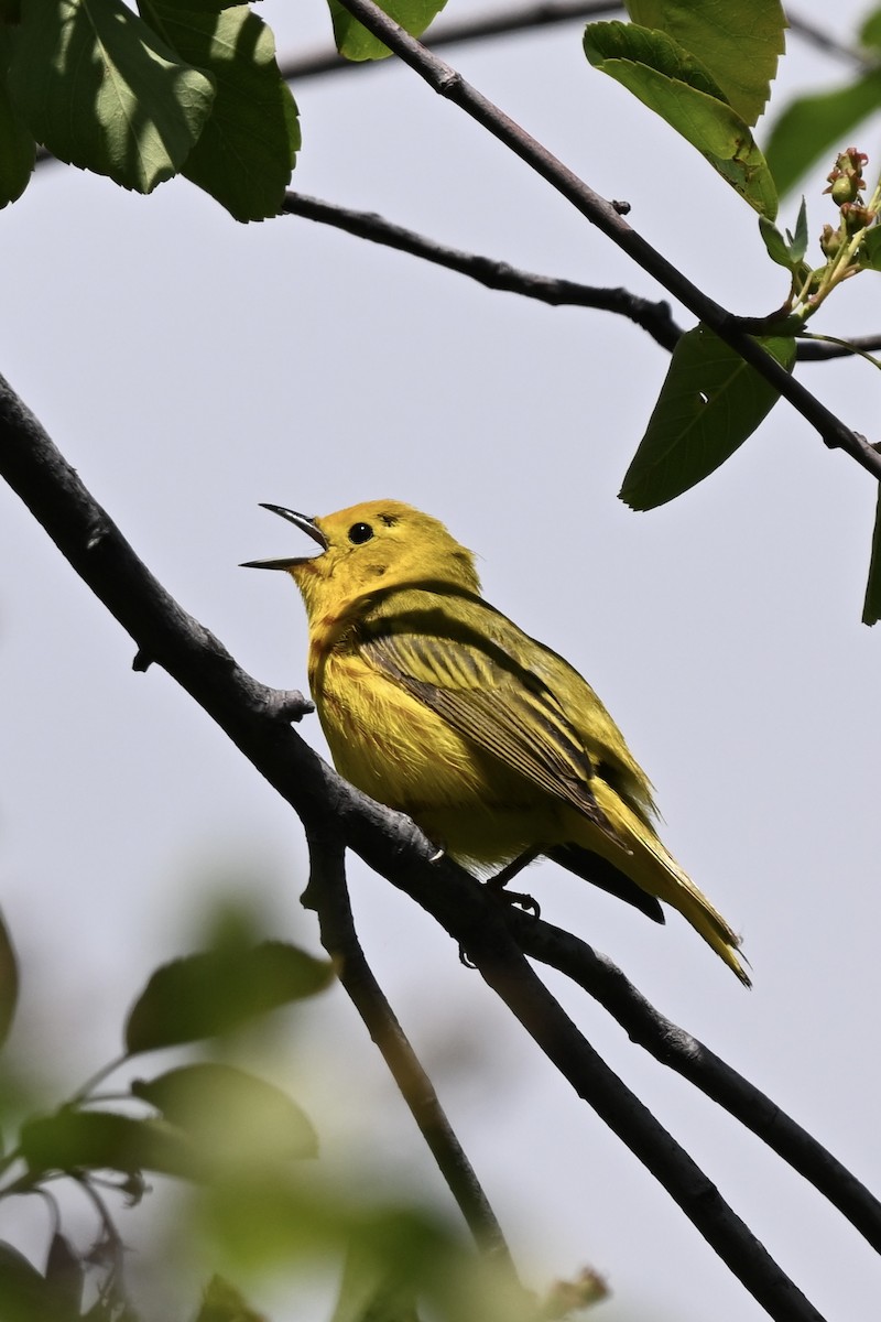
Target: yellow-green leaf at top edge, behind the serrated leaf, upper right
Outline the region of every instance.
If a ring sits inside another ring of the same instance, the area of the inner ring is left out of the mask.
[[[779,0],[627,0],[627,13],[699,56],[744,123],[756,123],[786,49]]]

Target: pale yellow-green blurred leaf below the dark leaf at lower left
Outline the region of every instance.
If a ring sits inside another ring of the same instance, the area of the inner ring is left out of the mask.
[[[181,1066],[157,1079],[136,1079],[132,1093],[222,1161],[318,1155],[305,1112],[280,1088],[232,1066]]]

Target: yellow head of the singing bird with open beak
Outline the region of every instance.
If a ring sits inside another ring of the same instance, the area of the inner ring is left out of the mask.
[[[318,555],[248,561],[246,568],[287,570],[309,617],[387,588],[446,584],[479,592],[474,557],[444,525],[412,505],[374,500],[309,518],[264,505],[318,543]]]

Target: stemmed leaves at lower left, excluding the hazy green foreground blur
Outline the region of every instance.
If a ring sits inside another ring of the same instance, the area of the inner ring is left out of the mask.
[[[0,1021],[8,1031],[18,972],[4,924],[0,937]],[[292,1163],[314,1158],[318,1140],[301,1107],[275,1084],[227,1062],[197,1060],[133,1079],[112,1095],[99,1085],[145,1052],[227,1038],[333,978],[332,964],[280,941],[227,943],[156,970],[128,1013],[119,1060],[61,1107],[26,1114],[4,1147],[0,1199],[38,1195],[49,1200],[54,1222],[42,1268],[0,1243],[4,1319],[135,1322],[108,1190],[135,1204],[149,1174],[203,1190],[242,1179],[258,1188],[267,1173],[275,1185],[296,1186]],[[53,1192],[61,1181],[78,1185],[98,1214],[98,1235],[86,1251],[62,1231]],[[234,1286],[221,1278],[209,1284],[199,1322],[251,1317]]]

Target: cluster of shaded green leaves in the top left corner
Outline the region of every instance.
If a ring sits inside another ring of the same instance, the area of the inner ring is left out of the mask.
[[[0,206],[37,144],[123,188],[184,175],[239,221],[275,215],[300,147],[275,40],[227,0],[17,0],[0,9]]]

